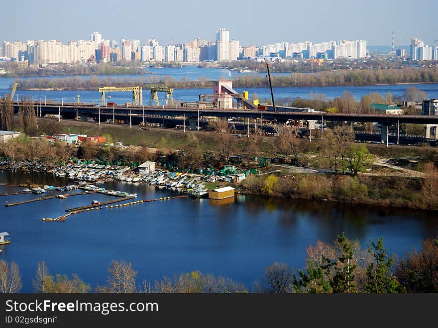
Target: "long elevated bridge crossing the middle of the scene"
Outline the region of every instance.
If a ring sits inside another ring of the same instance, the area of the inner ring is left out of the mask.
[[[287,121],[307,120],[307,121],[337,121],[337,122],[376,122],[381,126],[381,142],[388,143],[389,126],[396,124],[427,124],[431,126],[438,125],[438,115],[386,115],[386,114],[348,114],[348,113],[327,113],[327,112],[307,112],[307,111],[270,111],[254,109],[196,109],[188,107],[100,107],[87,104],[60,104],[53,103],[43,105],[35,103],[35,110],[39,112],[38,116],[45,114],[60,114],[66,118],[74,118],[81,115],[83,120],[87,117],[98,119],[101,115],[111,117],[123,117],[125,120],[131,120],[132,115],[155,115],[162,117],[185,117],[193,126],[193,122],[202,117],[224,117],[224,118],[250,118],[260,121],[268,120],[274,123],[286,123]],[[18,112],[17,103],[14,104],[15,112]],[[429,128],[429,127],[428,127]],[[430,137],[426,131],[425,137]]]

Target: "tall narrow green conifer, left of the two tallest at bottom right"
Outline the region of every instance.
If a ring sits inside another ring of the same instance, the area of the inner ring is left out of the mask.
[[[341,236],[337,236],[336,245],[339,251],[336,264],[336,272],[333,277],[332,288],[334,293],[355,293],[357,291],[356,284],[354,283],[354,269],[357,265],[352,264],[355,259],[353,258],[353,246],[351,241],[345,237],[344,232]],[[351,263],[350,263],[351,262]]]

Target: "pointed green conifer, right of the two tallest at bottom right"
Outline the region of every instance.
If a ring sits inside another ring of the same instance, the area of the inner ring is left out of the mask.
[[[368,283],[365,285],[365,291],[368,293],[400,292],[401,285],[390,271],[394,259],[393,256],[386,255],[383,237],[377,238],[377,243],[371,240],[371,246],[368,244],[368,253],[373,256],[375,262],[371,262],[366,269]]]

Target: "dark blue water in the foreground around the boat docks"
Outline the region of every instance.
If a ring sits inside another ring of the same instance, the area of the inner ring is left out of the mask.
[[[26,179],[55,186],[71,184],[52,174],[0,171],[0,183],[17,184]],[[172,195],[145,184],[114,182],[105,187],[134,191],[137,200]],[[0,186],[0,193],[20,190]],[[38,195],[1,196],[1,202],[34,198]],[[251,290],[264,267],[279,261],[303,268],[309,245],[317,240],[331,243],[343,231],[350,239],[357,238],[362,249],[370,239],[382,236],[388,253],[400,257],[414,247],[419,249],[424,238],[438,232],[436,213],[427,211],[244,195],[225,205],[208,199],[173,199],[84,212],[65,222],[41,220],[56,218],[65,214],[65,209],[89,205],[92,200],[110,199],[90,194],[1,206],[0,232],[7,231],[11,243],[0,246],[0,259],[18,263],[22,292],[33,292],[32,278],[39,261],[46,261],[53,275],[76,273],[95,287],[105,284],[112,259],[132,262],[138,282],[200,270],[230,277]]]

